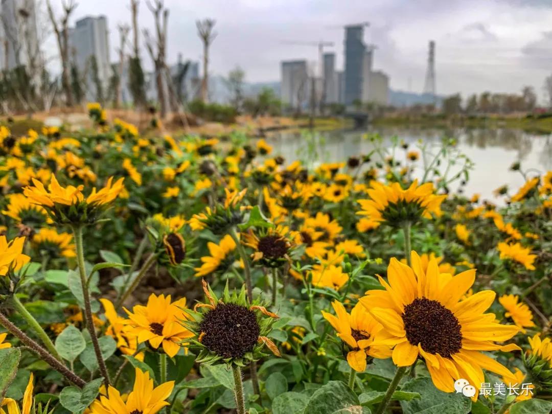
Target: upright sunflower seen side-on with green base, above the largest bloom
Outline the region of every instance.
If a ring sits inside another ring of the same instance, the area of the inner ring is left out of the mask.
[[[362,210],[357,214],[368,216],[378,222],[386,222],[391,226],[411,224],[422,217],[431,219],[432,214],[442,214],[440,205],[446,195],[434,194],[432,183],[418,186],[415,180],[406,190],[399,183],[385,185],[374,181],[368,190],[369,200],[358,200]]]

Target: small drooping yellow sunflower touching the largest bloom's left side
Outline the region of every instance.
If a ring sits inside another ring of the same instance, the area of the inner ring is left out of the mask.
[[[391,347],[373,345],[374,338],[382,330],[381,323],[364,308],[357,304],[349,315],[343,305],[334,300],[333,310],[337,316],[322,311],[322,316],[337,331],[337,336],[347,344],[347,362],[355,371],[364,372],[367,356],[389,358]]]

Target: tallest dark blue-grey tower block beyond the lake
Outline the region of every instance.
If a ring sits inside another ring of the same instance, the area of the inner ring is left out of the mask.
[[[364,25],[345,26],[344,104],[362,101],[366,59]]]

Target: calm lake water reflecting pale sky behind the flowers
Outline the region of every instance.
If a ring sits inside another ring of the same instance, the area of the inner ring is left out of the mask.
[[[492,191],[507,184],[513,194],[523,184],[519,172],[509,171],[514,162],[520,162],[528,176],[544,174],[552,169],[552,135],[537,135],[511,129],[454,129],[432,130],[412,128],[370,129],[384,139],[384,146],[391,146],[391,137],[397,136],[409,144],[408,150],[416,150],[418,140],[431,142],[438,146],[443,137],[457,140],[457,148],[464,153],[474,166],[470,179],[465,186],[465,194],[479,193],[482,199],[502,204]],[[279,132],[271,135],[267,141],[274,148],[274,155],[282,155],[291,162],[297,158],[305,160],[315,153],[316,163],[346,161],[350,156],[362,156],[374,149],[374,144],[366,139],[367,131],[317,131]],[[399,148],[395,154],[397,160],[405,160],[405,150]],[[414,164],[414,175],[421,175],[422,164]],[[450,188],[455,191],[458,185]]]

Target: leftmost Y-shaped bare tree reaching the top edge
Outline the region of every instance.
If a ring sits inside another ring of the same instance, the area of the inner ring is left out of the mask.
[[[60,50],[61,85],[63,91],[65,92],[66,104],[67,106],[71,107],[73,105],[73,95],[71,93],[69,62],[69,17],[71,16],[71,13],[76,9],[77,3],[75,3],[75,0],[62,2],[63,16],[59,22],[54,15],[54,10],[52,10],[50,0],[46,0],[46,4],[48,7],[48,15],[50,16],[50,21],[52,22],[54,33],[56,34],[57,46]]]

